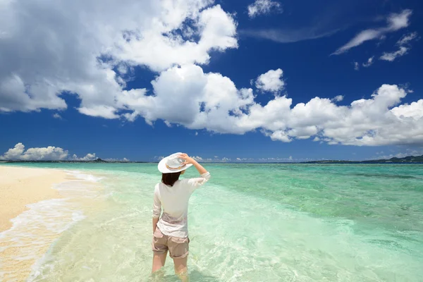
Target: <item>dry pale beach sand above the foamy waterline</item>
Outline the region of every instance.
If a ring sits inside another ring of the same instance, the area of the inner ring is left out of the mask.
[[[61,197],[52,187],[65,180],[64,171],[0,166],[0,232],[11,228],[10,220],[27,204]]]

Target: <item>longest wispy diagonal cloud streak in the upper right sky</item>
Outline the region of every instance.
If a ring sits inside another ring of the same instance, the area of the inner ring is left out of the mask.
[[[364,42],[369,40],[378,39],[383,37],[388,32],[394,32],[400,30],[401,28],[407,27],[410,23],[410,16],[412,14],[411,10],[403,10],[401,13],[392,13],[387,18],[388,25],[386,27],[379,27],[376,29],[363,30],[357,34],[353,39],[351,39],[343,47],[336,50],[333,54],[339,55],[343,54],[353,47],[357,47]]]

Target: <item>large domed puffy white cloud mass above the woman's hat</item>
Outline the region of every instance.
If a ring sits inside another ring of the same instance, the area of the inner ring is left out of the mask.
[[[252,90],[237,90],[229,78],[219,73],[203,73],[195,65],[170,68],[152,85],[154,96],[137,90],[128,92],[135,97],[128,99],[134,109],[133,117],[142,116],[149,124],[162,119],[190,129],[233,133],[237,130],[233,115],[242,114],[254,102]]]

